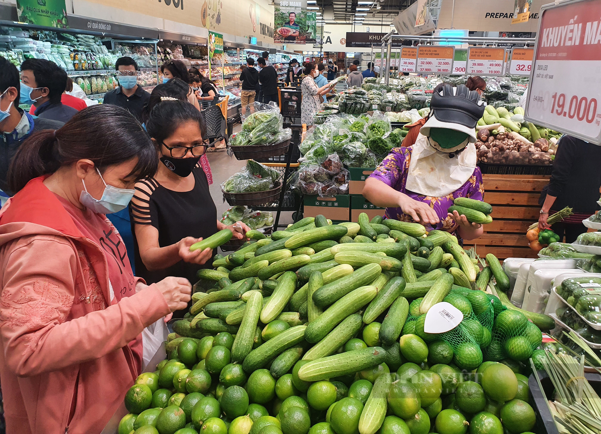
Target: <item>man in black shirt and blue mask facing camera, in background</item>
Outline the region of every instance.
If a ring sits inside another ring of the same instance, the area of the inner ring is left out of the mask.
[[[150,94],[137,84],[138,64],[131,57],[120,57],[115,62],[115,70],[119,87],[107,92],[103,103],[123,107],[136,119],[141,120],[142,109],[148,103]]]

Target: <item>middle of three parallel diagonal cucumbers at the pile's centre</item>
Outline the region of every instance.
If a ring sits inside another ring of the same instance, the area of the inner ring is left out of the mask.
[[[311,344],[319,342],[343,319],[372,301],[376,294],[377,289],[374,286],[362,286],[351,291],[323,311],[314,322],[309,323],[305,331],[305,340]]]

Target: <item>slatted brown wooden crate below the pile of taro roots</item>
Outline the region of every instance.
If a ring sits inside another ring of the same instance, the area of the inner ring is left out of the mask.
[[[540,191],[549,183],[543,175],[483,175],[484,201],[492,205],[491,224],[484,225],[484,234],[465,241],[465,248],[475,246],[480,257],[492,253],[505,258],[536,258],[528,247],[526,231],[538,221]]]

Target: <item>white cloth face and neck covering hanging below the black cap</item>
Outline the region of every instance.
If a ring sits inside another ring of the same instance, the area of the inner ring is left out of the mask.
[[[453,158],[449,158],[449,154],[430,145],[429,139],[420,133],[411,153],[407,190],[431,197],[444,197],[465,184],[476,167],[474,144],[468,143]]]

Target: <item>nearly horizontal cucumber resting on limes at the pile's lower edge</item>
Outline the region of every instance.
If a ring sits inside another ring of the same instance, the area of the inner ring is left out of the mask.
[[[385,358],[386,352],[382,347],[347,351],[312,360],[302,365],[298,371],[298,377],[302,381],[320,381],[354,374],[379,365]]]

